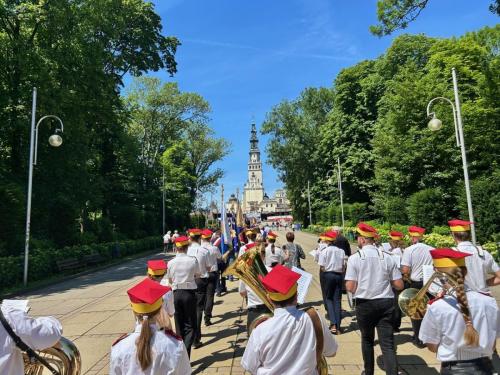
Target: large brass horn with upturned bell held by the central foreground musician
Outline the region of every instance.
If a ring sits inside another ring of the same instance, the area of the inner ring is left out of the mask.
[[[259,279],[259,275],[267,275],[267,268],[260,257],[259,249],[250,249],[239,256],[222,274],[222,276],[228,275],[236,276],[242,280],[255,292],[255,294],[257,294],[269,310],[274,311],[274,305]],[[255,327],[272,316],[272,314],[264,313],[255,318],[249,325],[248,337],[250,337],[250,334]],[[321,357],[321,362],[318,367],[319,375],[328,375],[328,364],[324,356]]]

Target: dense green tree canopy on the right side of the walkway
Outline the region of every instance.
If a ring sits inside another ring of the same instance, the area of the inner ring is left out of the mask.
[[[452,39],[402,35],[379,58],[343,69],[331,88],[306,88],[275,106],[262,131],[271,135],[269,159],[282,171],[295,216],[306,220],[302,192],[310,180],[313,221],[339,223],[337,187],[326,178],[338,158],[348,219],[359,218],[360,207],[365,218],[401,224],[467,217],[450,105],[432,108],[441,131],[426,126],[430,99],[454,99],[455,67],[479,238],[499,233],[491,212],[500,201],[486,193],[499,183],[499,44],[500,26]],[[425,219],[417,209],[424,205]]]

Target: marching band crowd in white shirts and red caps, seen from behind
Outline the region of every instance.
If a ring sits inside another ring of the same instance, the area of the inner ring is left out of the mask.
[[[375,330],[384,371],[398,374],[394,340],[401,324],[398,295],[405,288],[422,290],[425,267],[439,272],[438,288],[423,311],[421,306],[417,309],[420,316],[417,310],[409,313],[414,345],[436,353],[442,374],[493,374],[491,358],[500,319],[489,288],[500,284],[500,268],[491,254],[470,241],[470,222],[452,220],[449,225],[454,248],[424,244],[425,229],[417,226],[408,228],[411,246],[405,248],[404,234],[393,231],[390,246],[384,247],[374,227],[359,223],[358,249],[353,254],[339,228],[322,233],[311,254],[319,266],[329,323],[314,308],[298,306],[301,274],[296,271],[302,268],[305,253],[293,232],[287,232],[286,241],[278,246],[278,234],[271,229],[246,227],[237,252],[221,251],[217,231],[167,233],[166,250],[173,249],[175,256],[168,263],[148,261],[146,277],[127,291],[135,329],[113,343],[110,374],[190,374],[191,350],[203,345],[202,322],[212,324],[214,296],[223,293],[222,273],[231,259],[261,262],[265,269],[258,275],[258,288],[243,278],[238,286],[246,301],[249,336],[241,365],[251,374],[327,374],[325,357],[339,350],[336,335],[344,328],[344,285],[353,296],[361,333],[363,374],[375,371]],[[10,332],[31,348],[43,349],[60,339],[61,324],[4,306],[0,311],[0,373],[24,374],[19,342]]]

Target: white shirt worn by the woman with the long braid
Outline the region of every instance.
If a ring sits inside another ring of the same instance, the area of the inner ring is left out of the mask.
[[[494,298],[467,291],[472,325],[479,333],[479,346],[464,343],[465,322],[454,296],[446,295],[427,306],[419,339],[438,346],[437,359],[444,361],[469,360],[493,355],[493,345],[500,337],[500,318]]]

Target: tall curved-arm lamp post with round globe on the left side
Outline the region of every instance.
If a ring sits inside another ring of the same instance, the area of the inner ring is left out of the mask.
[[[60,128],[56,129],[55,133],[49,137],[49,144],[52,147],[59,147],[62,144],[62,137],[59,133],[64,131],[64,124],[61,119],[54,115],[43,116],[38,122],[36,121],[36,87],[33,87],[33,103],[31,108],[31,135],[30,135],[30,156],[29,156],[29,172],[28,172],[28,197],[26,203],[26,237],[24,242],[24,286],[28,285],[28,258],[30,251],[30,226],[31,226],[31,194],[33,191],[33,167],[37,162],[38,150],[38,127],[46,119],[55,119],[59,122]]]

